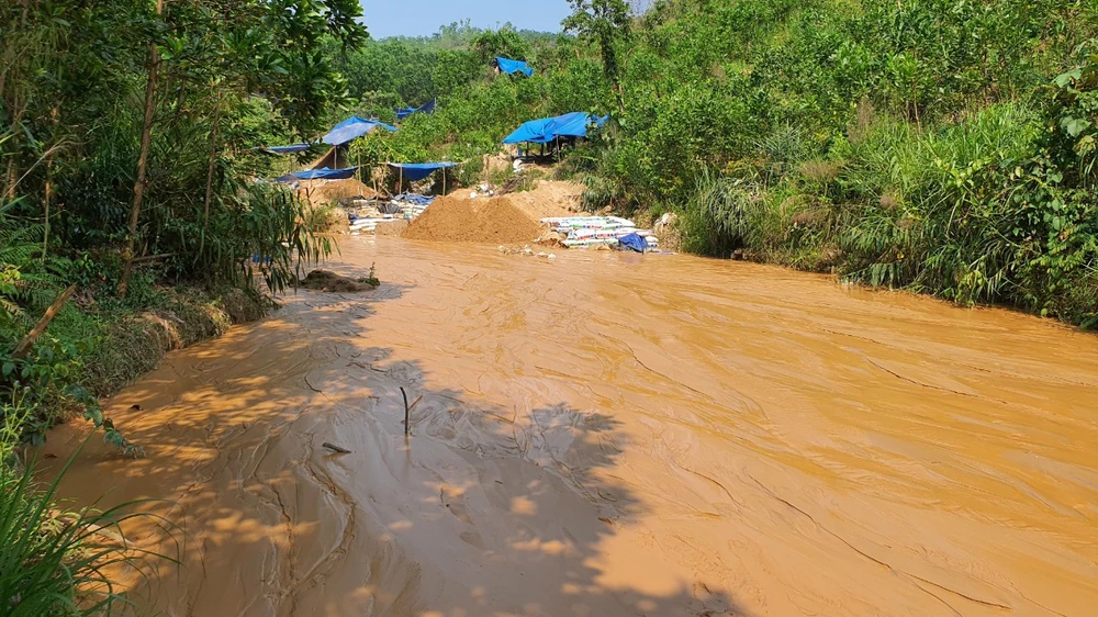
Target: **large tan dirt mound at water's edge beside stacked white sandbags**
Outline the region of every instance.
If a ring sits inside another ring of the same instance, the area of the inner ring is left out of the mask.
[[[435,200],[402,237],[413,240],[513,244],[530,242],[541,223],[512,203],[513,195]]]

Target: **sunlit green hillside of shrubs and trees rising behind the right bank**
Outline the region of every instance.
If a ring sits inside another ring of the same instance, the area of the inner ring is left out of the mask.
[[[570,36],[351,56],[425,58],[351,77],[365,111],[439,98],[360,158],[475,165],[524,120],[612,113],[561,170],[592,209],[676,212],[704,255],[1096,324],[1094,2],[572,4]],[[537,75],[486,77],[504,49]]]

